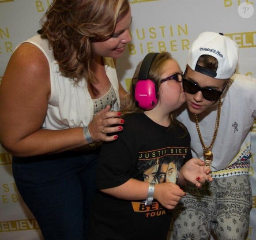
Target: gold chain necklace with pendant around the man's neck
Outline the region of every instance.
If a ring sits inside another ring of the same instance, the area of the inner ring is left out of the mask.
[[[216,139],[216,136],[217,136],[217,133],[218,133],[220,112],[221,112],[221,97],[218,101],[218,111],[217,111],[217,116],[216,116],[216,120],[215,120],[214,133],[213,133],[213,137],[212,137],[210,146],[205,146],[205,144],[203,142],[202,134],[200,132],[197,115],[196,115],[196,113],[194,114],[194,119],[195,119],[195,122],[196,122],[196,129],[197,129],[197,132],[198,132],[198,135],[199,135],[202,147],[203,147],[204,162],[205,162],[205,165],[207,167],[209,167],[210,169],[211,169],[211,162],[212,162],[212,159],[213,159],[213,154],[212,154],[211,150],[212,150],[212,146],[215,142],[215,139]]]

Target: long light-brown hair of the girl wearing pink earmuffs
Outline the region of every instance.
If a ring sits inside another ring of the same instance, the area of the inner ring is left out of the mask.
[[[154,61],[151,64],[150,71],[148,73],[148,77],[149,77],[149,79],[154,79],[155,84],[158,87],[158,89],[159,89],[159,86],[161,84],[160,81],[162,80],[164,65],[166,64],[166,62],[168,60],[175,60],[175,59],[173,59],[171,53],[162,52],[162,53],[159,53],[155,57]],[[136,105],[135,98],[134,98],[134,89],[135,89],[136,82],[138,81],[139,70],[140,70],[142,62],[143,61],[139,62],[139,64],[136,67],[136,70],[134,72],[132,82],[131,82],[131,85],[130,85],[130,90],[129,90],[130,94],[127,97],[127,105],[121,111],[123,116],[131,114],[131,113],[135,113],[135,112],[144,112],[145,111],[145,110],[139,108]],[[178,121],[176,119],[176,116],[177,116],[176,111],[170,112],[170,114],[169,114],[169,119],[170,119],[169,127],[172,127],[174,124],[181,126],[184,129],[184,135],[182,136],[182,137],[184,137],[185,135],[187,135],[187,128],[180,121]]]

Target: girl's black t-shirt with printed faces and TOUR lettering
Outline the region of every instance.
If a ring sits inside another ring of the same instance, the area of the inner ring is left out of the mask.
[[[130,178],[162,183],[176,182],[185,161],[191,158],[190,136],[178,125],[163,127],[144,113],[124,117],[118,139],[105,142],[98,160],[97,188],[113,188]],[[171,211],[154,200],[117,199],[97,190],[91,207],[89,239],[166,240]]]

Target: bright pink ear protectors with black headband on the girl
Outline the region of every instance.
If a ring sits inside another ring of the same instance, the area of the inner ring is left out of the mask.
[[[134,98],[136,106],[141,109],[153,109],[158,102],[158,86],[154,79],[148,78],[148,73],[155,57],[159,53],[148,53],[141,64],[138,81],[134,87]]]

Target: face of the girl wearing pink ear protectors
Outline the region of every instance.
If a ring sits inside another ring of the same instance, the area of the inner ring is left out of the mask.
[[[163,69],[162,79],[175,73],[182,73],[176,60],[168,60]],[[178,109],[185,102],[185,94],[182,87],[182,76],[179,75],[179,81],[174,79],[162,82],[159,86],[158,103],[166,108],[168,112]]]

